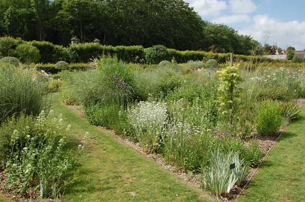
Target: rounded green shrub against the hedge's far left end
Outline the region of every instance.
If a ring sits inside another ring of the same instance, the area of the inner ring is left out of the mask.
[[[35,63],[40,59],[38,48],[29,43],[18,45],[14,53],[22,63]]]

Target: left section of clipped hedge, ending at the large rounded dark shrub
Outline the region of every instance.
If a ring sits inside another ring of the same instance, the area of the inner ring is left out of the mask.
[[[65,61],[67,63],[88,63],[94,58],[105,55],[117,55],[117,57],[127,63],[134,62],[135,57],[144,58],[144,48],[142,46],[106,46],[94,43],[85,43],[63,47],[54,45],[46,41],[26,42],[20,38],[0,37],[0,55],[16,56],[16,47],[23,43],[30,43],[39,49],[39,63],[57,63]]]

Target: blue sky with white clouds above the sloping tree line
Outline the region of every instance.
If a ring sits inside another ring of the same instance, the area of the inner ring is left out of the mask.
[[[184,0],[202,17],[262,44],[305,49],[305,0]]]

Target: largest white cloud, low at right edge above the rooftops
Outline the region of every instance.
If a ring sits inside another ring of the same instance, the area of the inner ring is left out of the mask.
[[[278,44],[282,48],[291,45],[297,50],[305,48],[305,21],[283,22],[268,17],[267,15],[256,15],[253,24],[240,30],[240,34],[251,35],[254,39],[264,41],[263,36],[269,34],[267,43]]]

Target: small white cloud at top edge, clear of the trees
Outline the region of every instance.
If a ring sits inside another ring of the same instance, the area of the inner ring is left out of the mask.
[[[230,0],[229,5],[234,14],[249,14],[257,9],[251,0]]]

